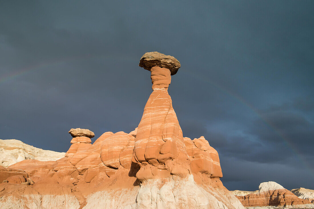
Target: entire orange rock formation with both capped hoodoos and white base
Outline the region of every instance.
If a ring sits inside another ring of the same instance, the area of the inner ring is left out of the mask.
[[[179,61],[149,52],[139,66],[151,72],[153,92],[138,128],[93,144],[94,133],[71,129],[65,157],[9,166],[34,184],[0,184],[1,208],[244,208],[219,179],[217,151],[203,136],[183,137],[168,94]]]

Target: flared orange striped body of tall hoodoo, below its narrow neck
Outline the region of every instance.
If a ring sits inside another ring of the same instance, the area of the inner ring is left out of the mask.
[[[176,164],[180,165],[181,175],[186,176],[190,170],[187,159],[171,97],[164,88],[154,89],[138,124],[133,155],[133,162],[141,168],[137,177],[141,180],[169,177]]]

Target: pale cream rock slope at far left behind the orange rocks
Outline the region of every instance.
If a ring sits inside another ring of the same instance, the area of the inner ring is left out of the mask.
[[[8,167],[26,159],[57,160],[62,158],[64,154],[64,152],[42,150],[15,139],[0,139],[0,166],[3,167]]]

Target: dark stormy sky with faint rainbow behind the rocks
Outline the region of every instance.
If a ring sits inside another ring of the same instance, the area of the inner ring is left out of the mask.
[[[229,190],[314,189],[314,1],[1,1],[0,139],[67,151],[138,126],[145,52],[181,62],[183,135],[218,152]]]

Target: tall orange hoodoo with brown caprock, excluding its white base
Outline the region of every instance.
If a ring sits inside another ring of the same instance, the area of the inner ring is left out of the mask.
[[[167,177],[172,172],[187,176],[190,173],[188,155],[167,91],[171,74],[176,74],[180,63],[169,55],[148,52],[141,58],[139,66],[150,70],[153,92],[138,125],[133,154],[133,162],[140,166],[136,176],[139,180]]]

